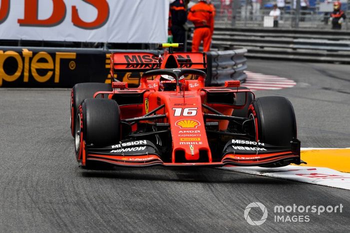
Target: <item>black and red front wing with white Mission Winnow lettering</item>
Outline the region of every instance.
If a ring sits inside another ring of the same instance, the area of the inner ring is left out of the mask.
[[[82,166],[89,161],[105,162],[118,166],[145,167],[162,166],[269,166],[300,164],[300,141],[290,146],[276,147],[264,143],[244,140],[230,140],[223,148],[221,159],[208,162],[188,161],[186,163],[163,161],[157,147],[148,140],[129,141],[103,148],[84,146]],[[168,161],[172,161],[168,159]]]

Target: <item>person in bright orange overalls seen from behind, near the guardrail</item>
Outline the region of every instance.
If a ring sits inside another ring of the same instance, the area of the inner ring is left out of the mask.
[[[203,41],[203,51],[209,51],[211,34],[214,30],[214,17],[213,11],[206,0],[199,0],[197,4],[193,5],[187,18],[194,24],[192,52],[199,51],[201,41]]]

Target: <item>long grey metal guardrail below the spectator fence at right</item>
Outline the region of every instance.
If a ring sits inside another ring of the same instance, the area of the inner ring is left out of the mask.
[[[245,47],[246,57],[350,63],[350,32],[216,27],[212,47]]]

